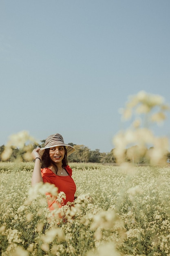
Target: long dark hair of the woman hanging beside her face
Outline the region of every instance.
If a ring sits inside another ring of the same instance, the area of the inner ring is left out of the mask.
[[[55,168],[55,171],[57,172],[58,168],[57,168],[56,164],[53,161],[51,161],[49,151],[50,151],[50,148],[46,148],[44,150],[44,153],[42,154],[41,168],[47,168],[50,165],[53,165],[53,167]],[[65,152],[65,155],[64,155],[64,158],[62,159],[62,166],[63,167],[68,165],[67,150],[66,150],[65,146],[64,146],[64,152]]]

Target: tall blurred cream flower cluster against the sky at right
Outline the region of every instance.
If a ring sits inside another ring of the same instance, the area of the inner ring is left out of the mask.
[[[133,117],[132,125],[126,131],[118,132],[113,138],[114,154],[119,164],[125,161],[125,156],[131,161],[134,158],[147,157],[150,164],[166,164],[168,138],[155,137],[149,130],[149,124],[162,124],[166,119],[165,111],[169,109],[160,95],[141,91],[129,97],[126,108],[122,108],[120,113],[122,120],[130,120]],[[131,147],[128,148],[129,146]],[[148,151],[148,146],[152,147],[152,150]]]

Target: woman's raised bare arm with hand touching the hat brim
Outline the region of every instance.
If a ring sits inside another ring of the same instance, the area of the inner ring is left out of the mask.
[[[41,156],[39,154],[39,150],[40,148],[35,148],[31,154],[33,159],[35,159],[35,165],[33,168],[33,175],[31,179],[32,186],[38,182],[43,182],[42,175],[41,175]]]

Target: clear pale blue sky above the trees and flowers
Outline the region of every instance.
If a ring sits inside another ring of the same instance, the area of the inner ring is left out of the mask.
[[[140,90],[170,103],[169,0],[0,1],[0,145],[28,130],[109,152]]]

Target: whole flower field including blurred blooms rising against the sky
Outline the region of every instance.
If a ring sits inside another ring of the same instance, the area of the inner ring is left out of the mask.
[[[169,109],[159,95],[129,97],[121,114],[130,127],[113,138],[117,166],[71,163],[77,199],[53,212],[45,194],[56,196],[57,188],[31,187],[33,162],[0,162],[0,255],[170,256],[170,146],[149,129],[162,124]],[[11,135],[1,159],[17,147],[30,161],[35,142],[26,131]],[[146,157],[149,166],[126,162],[126,148],[134,145],[128,158]]]

